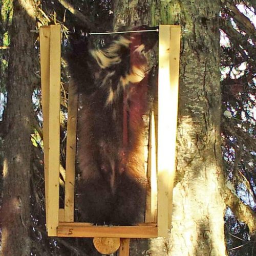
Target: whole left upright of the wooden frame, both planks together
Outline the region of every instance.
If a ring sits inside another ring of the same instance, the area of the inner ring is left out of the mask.
[[[60,26],[41,27],[39,32],[44,117],[46,223],[48,236],[56,236],[59,223]]]

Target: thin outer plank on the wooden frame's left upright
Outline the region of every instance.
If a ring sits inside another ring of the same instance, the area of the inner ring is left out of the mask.
[[[50,26],[39,28],[42,117],[44,136],[46,228],[48,229],[48,171],[49,171],[49,83],[50,83]]]

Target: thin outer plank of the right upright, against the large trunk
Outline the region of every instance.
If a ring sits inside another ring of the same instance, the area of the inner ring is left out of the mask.
[[[172,226],[173,212],[173,187],[176,170],[176,137],[178,121],[178,97],[179,97],[179,65],[180,65],[180,26],[170,26],[170,102],[172,102],[172,126],[170,127],[170,169],[169,169],[169,204],[168,204],[168,228]]]

